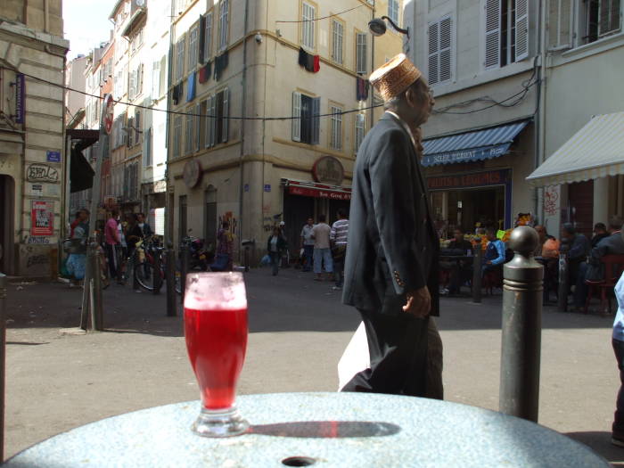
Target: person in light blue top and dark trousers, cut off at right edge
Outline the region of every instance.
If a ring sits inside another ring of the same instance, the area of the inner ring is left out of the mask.
[[[624,231],[620,232],[624,242]],[[618,300],[618,312],[613,321],[612,345],[615,359],[620,369],[620,391],[616,403],[615,415],[612,424],[612,444],[624,447],[624,275],[615,285],[615,298]]]

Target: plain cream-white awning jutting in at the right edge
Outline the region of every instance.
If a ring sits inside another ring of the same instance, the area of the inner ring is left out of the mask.
[[[560,185],[624,174],[624,112],[596,115],[527,177]]]

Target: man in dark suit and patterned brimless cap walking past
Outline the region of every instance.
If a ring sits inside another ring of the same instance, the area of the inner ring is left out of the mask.
[[[418,161],[419,127],[434,101],[404,54],[371,83],[386,113],[357,153],[343,301],[365,324],[370,368],[342,389],[442,398],[439,240]]]

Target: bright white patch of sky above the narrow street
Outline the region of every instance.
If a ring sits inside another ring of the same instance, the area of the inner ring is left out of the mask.
[[[109,15],[114,6],[115,0],[63,0],[65,38],[70,41],[68,60],[108,41],[112,28]]]

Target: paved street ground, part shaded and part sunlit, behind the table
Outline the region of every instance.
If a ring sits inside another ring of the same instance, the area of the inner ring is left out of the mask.
[[[359,318],[332,283],[292,268],[245,275],[250,339],[239,393],[334,391],[336,364]],[[103,333],[62,333],[79,324],[81,291],[66,283],[8,288],[5,456],[76,426],[199,397],[185,349],[181,308],[165,294],[111,284]],[[502,292],[443,298],[445,399],[498,407]],[[610,443],[619,376],[612,318],[544,308],[539,423],[586,443],[614,465]],[[86,442],[88,443],[88,442]]]

